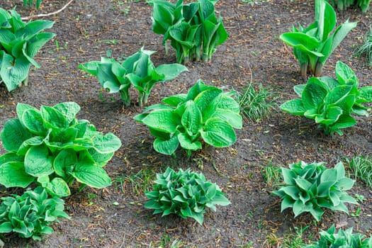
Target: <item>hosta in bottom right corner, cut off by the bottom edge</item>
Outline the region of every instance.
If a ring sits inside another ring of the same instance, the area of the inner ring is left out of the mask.
[[[372,237],[367,238],[360,233],[353,233],[353,227],[347,230],[339,229],[339,231],[336,232],[336,228],[332,225],[327,231],[320,231],[320,239],[305,248],[328,247],[371,248]]]

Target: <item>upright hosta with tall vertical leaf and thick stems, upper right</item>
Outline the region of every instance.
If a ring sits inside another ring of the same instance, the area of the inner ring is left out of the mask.
[[[280,35],[283,43],[293,47],[304,77],[308,71],[320,77],[328,57],[350,30],[356,27],[356,23],[346,21],[334,30],[336,23],[336,13],[332,6],[326,0],[315,0],[315,21],[307,28],[293,27],[293,32]]]

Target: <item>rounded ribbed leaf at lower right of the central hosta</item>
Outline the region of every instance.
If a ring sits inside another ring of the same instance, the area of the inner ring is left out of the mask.
[[[210,118],[201,131],[201,137],[214,147],[228,147],[235,143],[236,135],[232,126],[219,118]]]

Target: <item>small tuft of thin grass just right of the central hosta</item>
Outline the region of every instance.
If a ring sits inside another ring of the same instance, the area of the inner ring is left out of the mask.
[[[255,89],[252,83],[249,83],[242,94],[237,94],[237,101],[243,117],[248,121],[259,122],[268,118],[269,114],[277,106],[275,102],[277,94],[264,88],[259,84]]]

